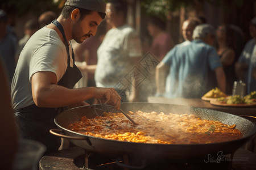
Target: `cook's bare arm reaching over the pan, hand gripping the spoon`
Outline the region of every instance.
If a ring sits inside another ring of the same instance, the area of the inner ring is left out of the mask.
[[[102,99],[116,108],[121,97],[114,88],[83,87],[69,89],[57,85],[56,74],[40,71],[32,75],[32,96],[38,107],[57,108],[80,103],[90,98]]]

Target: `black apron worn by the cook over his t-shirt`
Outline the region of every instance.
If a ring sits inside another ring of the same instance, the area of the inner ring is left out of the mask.
[[[68,66],[63,77],[57,83],[60,86],[73,88],[81,79],[80,70],[75,65],[75,56],[72,49],[73,67],[70,66],[70,55],[68,41],[65,37],[64,29],[57,20],[52,22],[61,32],[64,38],[65,46],[68,53]],[[46,145],[48,152],[57,151],[60,146],[61,139],[49,133],[50,129],[56,129],[53,119],[64,111],[65,108],[39,108],[35,104],[28,107],[18,109],[15,112],[15,117],[20,132],[20,137],[34,139]]]

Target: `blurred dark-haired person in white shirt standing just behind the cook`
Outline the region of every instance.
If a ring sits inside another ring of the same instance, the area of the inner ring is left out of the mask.
[[[141,41],[134,28],[126,23],[127,3],[121,0],[108,1],[106,22],[112,28],[106,33],[97,50],[98,62],[95,72],[97,87],[114,88],[125,78],[142,57]],[[137,85],[125,86],[131,89],[130,95],[121,94],[123,101],[138,100]]]

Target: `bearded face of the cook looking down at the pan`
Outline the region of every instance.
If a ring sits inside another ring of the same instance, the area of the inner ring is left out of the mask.
[[[101,21],[102,18],[96,11],[92,11],[91,14],[86,15],[83,19],[80,18],[73,24],[73,39],[81,44],[90,36],[94,36]]]

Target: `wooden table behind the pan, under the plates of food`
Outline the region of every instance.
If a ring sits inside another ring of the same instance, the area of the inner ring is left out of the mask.
[[[210,104],[209,101],[204,101],[202,99],[184,99],[184,98],[164,98],[164,97],[148,97],[149,103],[166,103],[166,104],[179,104],[179,105],[189,105],[192,107],[200,107],[213,109],[216,111],[221,111],[225,113],[231,113],[236,115],[248,115],[256,116],[256,106],[251,107],[222,107]],[[256,121],[256,120],[254,120]]]

